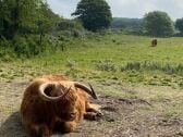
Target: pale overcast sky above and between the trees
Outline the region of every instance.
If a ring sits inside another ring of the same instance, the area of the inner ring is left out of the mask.
[[[80,0],[47,0],[53,12],[71,17]],[[107,0],[113,17],[141,18],[149,11],[164,11],[172,20],[183,17],[183,0]]]

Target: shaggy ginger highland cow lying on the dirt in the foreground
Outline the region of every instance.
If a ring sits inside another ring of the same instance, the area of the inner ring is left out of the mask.
[[[23,125],[34,137],[50,137],[56,128],[72,132],[83,119],[102,115],[97,104],[89,103],[87,95],[97,99],[91,85],[87,87],[61,75],[35,78],[22,100]]]

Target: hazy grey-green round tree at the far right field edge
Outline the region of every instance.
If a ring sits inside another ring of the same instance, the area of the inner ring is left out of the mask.
[[[145,14],[144,27],[151,36],[171,36],[173,34],[173,23],[166,12],[154,11]]]

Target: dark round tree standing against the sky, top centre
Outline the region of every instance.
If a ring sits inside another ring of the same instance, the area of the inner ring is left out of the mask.
[[[84,27],[93,32],[108,28],[112,21],[110,7],[106,0],[81,0],[72,15],[77,16]]]

